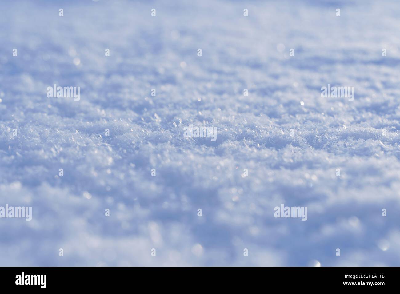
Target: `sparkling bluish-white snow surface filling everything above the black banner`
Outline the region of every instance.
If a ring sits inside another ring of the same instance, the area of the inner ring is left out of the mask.
[[[399,5],[2,2],[0,265],[398,266]]]

